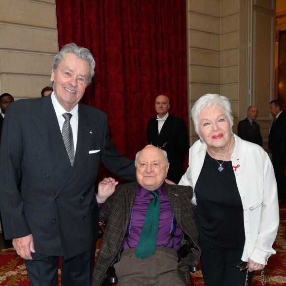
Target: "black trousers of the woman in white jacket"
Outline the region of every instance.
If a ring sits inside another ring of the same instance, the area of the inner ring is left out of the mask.
[[[241,263],[242,248],[219,248],[202,245],[201,267],[205,286],[245,286],[247,271]],[[249,273],[249,285],[253,272]]]

